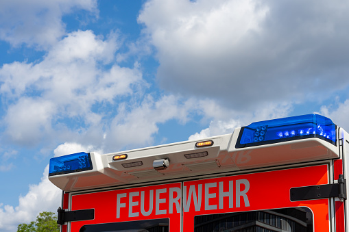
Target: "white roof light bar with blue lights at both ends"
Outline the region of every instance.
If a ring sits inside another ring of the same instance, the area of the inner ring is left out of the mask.
[[[308,122],[311,118],[313,121]],[[286,128],[285,122],[293,124],[287,125]],[[315,133],[310,132],[310,127],[309,135],[302,135],[302,129],[298,135],[296,129],[293,133],[293,128],[304,125],[306,127],[312,125],[312,131],[315,129]],[[277,129],[285,130],[282,136],[287,138],[280,138],[280,133],[274,133],[278,132]],[[256,131],[259,132],[258,136]],[[339,157],[339,149],[333,131],[337,131],[337,127],[322,116],[269,120],[252,123],[248,127],[234,129],[233,133],[204,140],[184,141],[104,155],[89,153],[88,162],[91,164],[91,169],[77,169],[76,172],[56,172],[64,170],[64,166],[68,167],[72,161],[75,162],[75,158],[55,159],[64,164],[56,169],[50,166],[52,173],[50,172],[49,180],[65,192],[72,192],[335,159]],[[327,138],[328,133],[330,139]],[[254,142],[253,136],[257,138],[257,142]],[[260,141],[262,140],[260,136],[265,136],[263,141]],[[236,146],[238,142],[242,146]]]

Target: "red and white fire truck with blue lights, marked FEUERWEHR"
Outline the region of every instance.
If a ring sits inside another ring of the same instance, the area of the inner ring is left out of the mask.
[[[349,231],[349,134],[317,114],[116,153],[53,157],[66,231]]]

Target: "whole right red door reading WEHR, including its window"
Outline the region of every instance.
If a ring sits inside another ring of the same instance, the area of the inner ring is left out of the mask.
[[[327,183],[327,165],[184,182],[183,232],[330,231],[328,198],[290,201]]]

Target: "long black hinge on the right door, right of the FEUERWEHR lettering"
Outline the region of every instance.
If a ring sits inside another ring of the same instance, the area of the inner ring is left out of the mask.
[[[344,175],[339,175],[338,183],[291,188],[289,193],[291,201],[329,197],[338,197],[341,201],[344,201],[346,200],[346,179],[344,179]]]

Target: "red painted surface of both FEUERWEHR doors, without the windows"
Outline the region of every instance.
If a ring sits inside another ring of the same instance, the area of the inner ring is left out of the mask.
[[[95,219],[71,222],[71,231],[84,224],[169,218],[170,231],[178,232],[183,208],[183,231],[192,232],[197,215],[284,207],[309,207],[315,231],[328,231],[328,199],[289,200],[290,188],[326,183],[328,166],[321,165],[187,181],[183,190],[171,183],[73,195],[71,210],[95,209]]]

